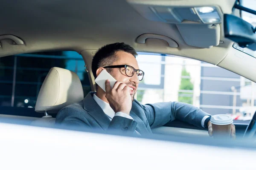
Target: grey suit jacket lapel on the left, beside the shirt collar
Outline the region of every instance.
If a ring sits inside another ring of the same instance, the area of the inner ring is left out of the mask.
[[[93,99],[93,94],[95,92],[89,92],[87,96],[83,99],[84,110],[87,111],[90,116],[92,116],[96,122],[102,127],[103,130],[108,129],[108,125],[110,124],[110,119],[108,116],[102,111],[102,108],[95,102]]]

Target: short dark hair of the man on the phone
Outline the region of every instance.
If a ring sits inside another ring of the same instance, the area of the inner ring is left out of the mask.
[[[105,67],[105,66],[111,65],[113,62],[115,62],[118,59],[115,56],[117,51],[125,51],[127,53],[132,54],[135,58],[138,55],[134,48],[132,48],[128,44],[125,44],[124,42],[116,42],[113,44],[105,45],[102,48],[99,48],[99,50],[94,55],[93,61],[92,61],[92,71],[95,79],[97,77],[96,71],[99,67]],[[108,68],[107,68],[107,71],[109,72]]]

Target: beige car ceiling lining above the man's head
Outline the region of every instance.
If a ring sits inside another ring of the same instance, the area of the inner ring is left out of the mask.
[[[133,1],[133,0],[130,0]],[[235,0],[137,0],[140,3],[175,6],[220,6],[231,13]],[[185,4],[185,5],[184,5]],[[126,0],[2,0],[0,35],[20,37],[25,45],[1,41],[0,57],[48,50],[96,50],[102,45],[125,42],[137,51],[173,54],[218,64],[232,42],[221,34],[224,43],[212,48],[186,44],[175,24],[147,20]],[[222,33],[221,29],[221,33]],[[179,45],[171,48],[164,40],[136,42],[141,34],[171,37]]]

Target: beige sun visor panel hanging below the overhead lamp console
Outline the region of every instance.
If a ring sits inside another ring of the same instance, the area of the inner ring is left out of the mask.
[[[186,44],[200,47],[212,48],[219,45],[219,24],[176,24]]]

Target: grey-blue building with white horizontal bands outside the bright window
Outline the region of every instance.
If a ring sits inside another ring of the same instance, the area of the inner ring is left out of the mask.
[[[242,106],[241,76],[217,66],[201,67],[200,108],[207,113],[233,113],[233,88],[236,88],[236,112]],[[235,113],[236,113],[235,112]]]

